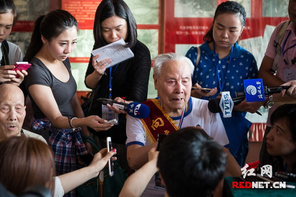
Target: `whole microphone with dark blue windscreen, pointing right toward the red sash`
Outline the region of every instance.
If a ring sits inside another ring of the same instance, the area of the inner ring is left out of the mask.
[[[115,105],[118,109],[122,109],[126,111],[126,113],[134,118],[147,118],[150,114],[150,108],[146,104],[142,104],[139,102],[116,102],[111,99],[97,99],[104,105],[110,104],[111,106]]]

